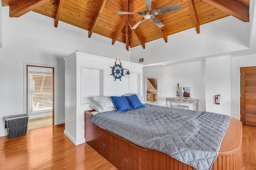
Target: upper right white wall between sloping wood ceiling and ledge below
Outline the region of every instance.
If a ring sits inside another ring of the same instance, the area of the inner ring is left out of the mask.
[[[242,31],[241,31],[242,30]],[[232,16],[200,25],[200,33],[194,28],[168,36],[168,43],[157,39],[131,50],[131,62],[142,64],[179,61],[208,55],[249,49],[250,23],[242,22]]]

